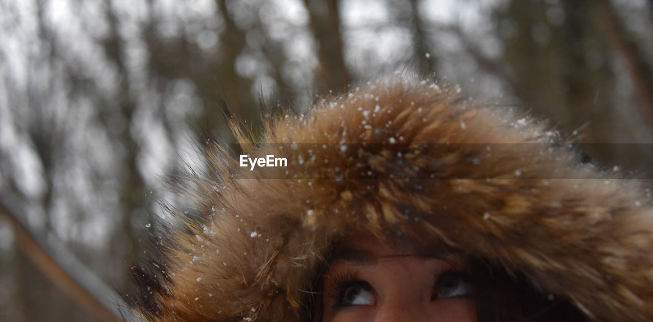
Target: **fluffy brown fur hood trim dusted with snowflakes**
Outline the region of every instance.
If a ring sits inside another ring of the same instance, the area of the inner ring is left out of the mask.
[[[306,320],[330,246],[359,229],[442,240],[596,321],[653,321],[646,190],[582,165],[509,108],[404,78],[271,121],[258,142],[237,137],[238,154],[287,167],[240,168],[207,144],[188,185],[202,216],[164,242],[163,280],[143,288],[148,321]]]

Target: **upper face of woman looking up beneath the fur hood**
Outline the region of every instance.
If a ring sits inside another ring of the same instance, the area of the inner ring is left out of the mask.
[[[468,263],[461,255],[417,255],[370,236],[349,238],[327,274],[323,322],[475,322]]]

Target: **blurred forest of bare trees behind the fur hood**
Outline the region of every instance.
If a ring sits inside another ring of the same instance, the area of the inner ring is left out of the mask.
[[[260,101],[306,110],[395,71],[524,106],[646,173],[652,16],[646,0],[3,0],[0,198],[72,276],[122,290],[193,133],[231,139],[221,100],[256,129]],[[99,321],[12,223],[0,321]]]

